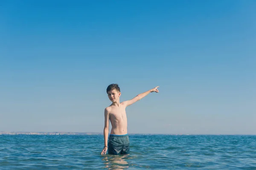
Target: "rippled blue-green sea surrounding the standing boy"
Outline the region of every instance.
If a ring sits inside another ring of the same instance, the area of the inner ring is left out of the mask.
[[[256,170],[256,136],[129,138],[130,155],[102,156],[103,135],[0,135],[0,170]]]

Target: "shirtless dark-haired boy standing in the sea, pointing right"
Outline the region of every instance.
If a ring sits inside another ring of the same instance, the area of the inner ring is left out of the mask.
[[[105,127],[104,127],[104,142],[105,145],[101,154],[119,155],[130,153],[130,142],[127,134],[127,117],[125,108],[134,102],[142,99],[151,92],[158,93],[159,86],[152,88],[142,94],[137,95],[131,100],[120,103],[119,97],[121,96],[120,88],[117,84],[111,84],[107,88],[108,98],[112,104],[105,108]],[[109,120],[112,125],[111,133],[108,139]]]

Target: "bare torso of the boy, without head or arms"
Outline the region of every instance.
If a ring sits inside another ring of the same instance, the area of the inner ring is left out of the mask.
[[[111,108],[109,119],[112,125],[110,134],[127,134],[127,116],[125,112],[125,105],[120,103],[119,107],[115,105],[111,105],[109,107]]]

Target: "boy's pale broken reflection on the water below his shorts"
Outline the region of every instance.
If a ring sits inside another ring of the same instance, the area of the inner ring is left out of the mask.
[[[102,161],[108,170],[123,170],[129,167],[127,158],[128,155],[106,155]]]

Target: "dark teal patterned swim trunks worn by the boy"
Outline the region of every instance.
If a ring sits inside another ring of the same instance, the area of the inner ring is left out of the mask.
[[[108,154],[119,155],[130,153],[130,141],[128,134],[113,135],[110,134],[108,138]]]

